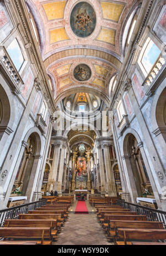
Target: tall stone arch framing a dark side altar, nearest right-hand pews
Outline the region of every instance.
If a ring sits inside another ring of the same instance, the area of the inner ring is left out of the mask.
[[[135,144],[132,144],[132,140]],[[129,149],[129,145],[131,148]],[[135,147],[135,151],[133,147]],[[123,134],[123,156],[125,166],[125,176],[128,185],[128,191],[131,193],[131,198],[136,203],[136,198],[142,197],[144,188],[148,187],[151,194],[158,199],[158,191],[155,184],[155,176],[152,174],[148,163],[146,153],[144,152],[143,142],[134,129],[128,129]],[[136,157],[136,158],[135,158]],[[153,177],[154,176],[154,177]]]

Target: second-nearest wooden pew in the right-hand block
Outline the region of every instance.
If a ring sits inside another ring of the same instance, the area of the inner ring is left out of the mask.
[[[162,222],[154,221],[125,221],[125,220],[111,220],[107,238],[117,240],[117,228],[149,228],[149,229],[164,229]]]

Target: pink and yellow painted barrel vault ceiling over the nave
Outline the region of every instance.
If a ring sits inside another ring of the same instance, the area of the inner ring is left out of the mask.
[[[133,3],[134,0],[27,0],[38,28],[45,69],[55,85],[56,103],[79,91],[108,102],[110,79],[122,65],[123,25]],[[89,20],[85,19],[87,23],[82,25],[78,15]],[[81,35],[76,33],[78,29]],[[85,36],[85,32],[90,35]],[[79,64],[89,66],[88,79],[76,79],[75,68]]]

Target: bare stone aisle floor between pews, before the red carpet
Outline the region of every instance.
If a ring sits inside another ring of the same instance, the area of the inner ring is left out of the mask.
[[[54,245],[113,245],[97,222],[96,214],[69,214]]]

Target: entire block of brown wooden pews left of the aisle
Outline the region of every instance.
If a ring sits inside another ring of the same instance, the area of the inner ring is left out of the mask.
[[[66,202],[49,201],[45,206],[6,219],[0,228],[0,245],[51,245],[69,218],[71,198]]]

